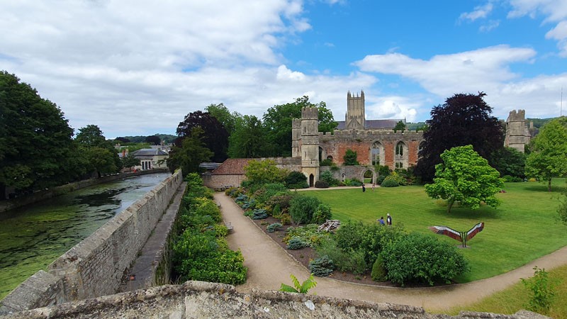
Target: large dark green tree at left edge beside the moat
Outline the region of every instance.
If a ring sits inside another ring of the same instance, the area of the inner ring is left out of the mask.
[[[73,129],[60,108],[15,74],[0,72],[0,197],[73,179]]]

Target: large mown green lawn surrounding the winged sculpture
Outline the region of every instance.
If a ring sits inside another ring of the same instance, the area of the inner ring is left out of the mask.
[[[472,211],[454,207],[447,213],[443,201],[425,194],[423,186],[400,186],[366,189],[337,189],[310,191],[332,208],[333,218],[342,222],[362,220],[376,222],[390,213],[393,223],[403,223],[406,229],[437,236],[454,245],[459,242],[447,236],[435,235],[428,229],[444,225],[466,231],[484,222],[481,233],[462,249],[471,264],[471,272],[456,281],[468,282],[509,272],[527,262],[567,245],[567,226],[556,219],[565,179],[554,179],[554,189],[547,192],[546,184],[537,182],[506,183],[506,193],[498,194],[503,203],[498,208],[481,206]]]

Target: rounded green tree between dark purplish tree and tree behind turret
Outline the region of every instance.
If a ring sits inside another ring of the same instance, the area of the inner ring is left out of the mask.
[[[228,155],[231,158],[255,158],[268,155],[266,130],[256,116],[242,116],[228,141]]]

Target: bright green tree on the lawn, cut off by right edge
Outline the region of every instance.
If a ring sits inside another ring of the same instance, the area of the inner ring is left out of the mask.
[[[529,145],[526,174],[547,181],[551,191],[552,177],[567,175],[567,117],[549,121]]]

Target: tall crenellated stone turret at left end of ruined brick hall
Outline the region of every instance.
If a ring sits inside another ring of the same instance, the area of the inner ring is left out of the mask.
[[[294,122],[293,129],[295,127]],[[300,156],[301,172],[307,177],[309,186],[315,186],[315,181],[319,180],[319,111],[317,108],[301,109]]]

